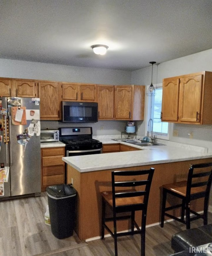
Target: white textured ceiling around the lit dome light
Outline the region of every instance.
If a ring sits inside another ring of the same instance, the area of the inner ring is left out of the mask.
[[[0,58],[135,70],[211,48],[212,0],[0,1]]]

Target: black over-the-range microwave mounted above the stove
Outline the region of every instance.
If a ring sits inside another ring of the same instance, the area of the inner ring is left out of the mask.
[[[63,122],[90,123],[98,121],[97,102],[62,101]]]

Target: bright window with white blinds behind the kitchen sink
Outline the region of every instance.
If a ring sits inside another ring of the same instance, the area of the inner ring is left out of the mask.
[[[153,135],[159,139],[169,139],[169,123],[161,122],[161,106],[162,106],[162,84],[154,85],[155,87],[155,96],[147,97],[148,98],[148,107],[147,107],[147,131],[151,131],[151,122],[149,119],[153,120]],[[148,127],[149,123],[149,127]]]

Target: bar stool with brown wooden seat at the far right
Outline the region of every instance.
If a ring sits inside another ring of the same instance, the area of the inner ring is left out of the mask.
[[[190,221],[202,218],[204,225],[208,222],[208,204],[212,181],[212,163],[191,164],[188,171],[187,181],[180,181],[162,186],[163,199],[161,211],[161,227],[164,225],[164,217],[168,216],[176,221],[186,224],[190,228]],[[181,204],[166,207],[167,193],[182,199]],[[199,214],[190,209],[190,201],[204,198],[204,211]],[[167,211],[181,207],[181,218],[168,214]],[[194,217],[190,217],[190,213]],[[185,220],[184,220],[185,214]]]

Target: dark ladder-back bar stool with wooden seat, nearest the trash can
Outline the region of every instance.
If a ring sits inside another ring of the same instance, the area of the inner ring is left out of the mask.
[[[153,173],[154,168],[138,171],[112,171],[112,191],[101,193],[102,239],[104,238],[104,229],[107,229],[114,238],[116,256],[118,255],[117,237],[133,234],[141,235],[141,255],[145,255],[146,212]],[[120,187],[125,188],[125,190],[120,190]],[[106,204],[113,211],[111,218],[105,216]],[[135,211],[142,211],[141,228],[135,222]],[[124,214],[117,216],[117,213]],[[131,230],[117,233],[116,221],[124,219],[131,219]],[[106,222],[111,221],[113,221],[113,231],[106,224]],[[134,230],[134,226],[137,230]]]

